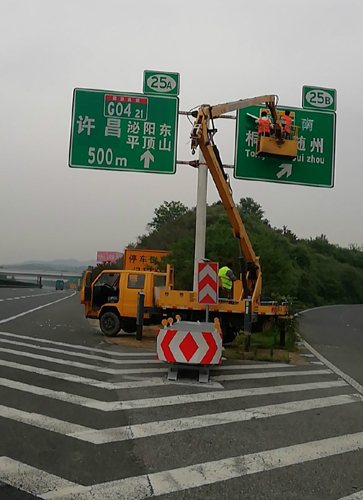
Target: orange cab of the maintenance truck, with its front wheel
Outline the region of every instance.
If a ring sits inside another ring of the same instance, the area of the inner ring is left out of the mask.
[[[144,324],[160,322],[160,310],[156,306],[160,290],[173,288],[173,270],[166,273],[154,271],[105,270],[92,282],[92,271],[83,276],[81,303],[86,318],[99,319],[102,332],[116,336],[122,329],[126,333],[136,331],[138,295],[145,294]]]

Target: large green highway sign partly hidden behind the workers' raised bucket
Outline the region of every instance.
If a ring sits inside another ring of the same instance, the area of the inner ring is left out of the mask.
[[[263,106],[242,109],[237,115],[234,177],[306,186],[333,187],[335,167],[335,113],[278,107],[278,114],[290,110],[298,129],[298,155],[294,160],[256,157],[258,139],[255,118]]]

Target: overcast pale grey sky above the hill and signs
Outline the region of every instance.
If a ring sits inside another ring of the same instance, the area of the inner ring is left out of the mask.
[[[180,109],[276,93],[301,105],[304,84],[336,88],[333,189],[233,180],[275,226],[363,243],[361,0],[1,0],[0,263],[93,259],[145,232],[164,200],[196,203],[197,172],[70,169],[74,87],[142,91],[144,69],[181,75]],[[226,121],[225,121],[226,122]],[[234,129],[218,123],[225,163]],[[179,159],[190,159],[180,117]],[[208,201],[218,199],[209,180]]]

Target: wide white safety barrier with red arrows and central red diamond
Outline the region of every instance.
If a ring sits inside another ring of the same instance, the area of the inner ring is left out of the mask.
[[[180,321],[159,330],[157,359],[188,365],[218,365],[222,334],[215,323]]]

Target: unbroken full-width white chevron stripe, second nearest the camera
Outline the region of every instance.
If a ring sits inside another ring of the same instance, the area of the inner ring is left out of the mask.
[[[25,412],[3,405],[0,405],[0,417],[32,425],[40,429],[57,432],[58,434],[63,434],[88,443],[105,444],[160,436],[174,432],[203,429],[217,425],[234,424],[236,422],[246,422],[248,420],[271,418],[279,415],[289,415],[291,413],[358,403],[362,402],[362,400],[363,396],[360,394],[343,394],[339,396],[260,406],[257,408],[248,408],[246,410],[197,415],[193,417],[147,422],[144,424],[127,425],[101,430],[84,427],[64,420],[58,420],[46,415]]]

